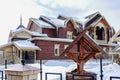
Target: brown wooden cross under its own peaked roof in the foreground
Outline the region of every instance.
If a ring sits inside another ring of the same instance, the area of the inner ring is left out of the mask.
[[[103,49],[98,46],[93,39],[86,34],[86,30],[83,30],[77,38],[65,49],[65,51],[61,54],[67,54],[67,56],[74,60],[77,63],[77,69],[72,71],[71,73],[77,74],[85,74],[84,64],[93,58],[98,53],[105,53]],[[71,52],[71,48],[77,46],[76,51]]]

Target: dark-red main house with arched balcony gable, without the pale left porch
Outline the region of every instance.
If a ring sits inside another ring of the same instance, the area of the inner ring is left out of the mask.
[[[41,51],[37,51],[37,59],[58,59],[59,55],[55,55],[55,49],[57,48],[58,53],[61,54],[61,52],[64,51],[64,46],[71,43],[66,42],[66,40],[74,40],[77,35],[87,27],[89,27],[87,34],[89,34],[106,52],[118,46],[118,44],[110,41],[115,34],[115,30],[99,12],[88,15],[84,19],[63,15],[59,15],[57,18],[46,16],[40,16],[39,19],[30,18],[27,29],[41,34],[47,34],[49,37],[44,39],[31,39],[32,42],[42,49]]]

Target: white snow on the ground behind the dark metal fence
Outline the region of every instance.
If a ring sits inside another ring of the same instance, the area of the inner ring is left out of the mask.
[[[103,64],[110,63],[109,65],[103,66],[103,80],[110,80],[110,76],[120,76],[120,65],[113,63],[110,60],[103,60]],[[17,64],[14,64],[17,65]],[[26,64],[34,67],[40,68],[40,64]],[[0,66],[0,70],[4,70],[5,66]],[[13,65],[8,65],[8,68],[13,67]],[[62,73],[62,78],[65,80],[66,72],[70,72],[76,68],[76,64],[72,61],[59,61],[59,60],[49,60],[42,64],[43,77],[45,80],[45,73]],[[94,72],[97,74],[97,80],[100,80],[100,61],[91,60],[87,62],[84,69],[88,72]],[[38,80],[40,80],[40,74],[38,74]],[[48,75],[48,80],[60,80],[59,75]]]

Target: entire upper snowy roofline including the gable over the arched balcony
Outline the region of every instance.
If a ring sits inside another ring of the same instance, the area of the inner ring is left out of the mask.
[[[67,16],[63,16],[63,15],[59,15],[57,18],[41,15],[39,17],[39,19],[30,18],[27,28],[29,29],[32,22],[34,22],[35,24],[37,24],[38,26],[43,27],[43,28],[57,29],[58,27],[66,27],[66,24],[68,21],[73,21],[74,26],[84,29],[86,27],[95,26],[101,20],[104,20],[105,26],[107,26],[107,28],[111,29],[110,25],[108,24],[108,22],[106,21],[104,16],[101,15],[100,12],[95,12],[93,14],[90,14],[90,15],[84,17],[84,19],[79,19],[76,17],[67,17]]]

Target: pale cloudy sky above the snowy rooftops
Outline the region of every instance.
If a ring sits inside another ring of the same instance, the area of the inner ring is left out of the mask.
[[[120,0],[0,0],[0,45],[7,43],[10,30],[20,24],[26,27],[29,18],[59,14],[83,18],[99,11],[115,28],[120,29]]]

